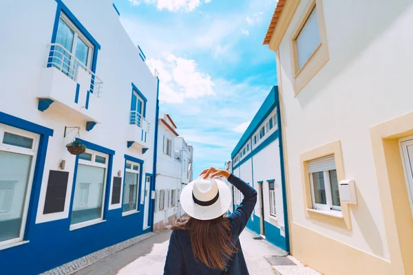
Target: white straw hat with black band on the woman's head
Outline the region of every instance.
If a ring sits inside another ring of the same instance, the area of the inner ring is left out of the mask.
[[[231,190],[220,179],[198,177],[182,189],[180,203],[190,217],[205,221],[225,214],[231,197]]]

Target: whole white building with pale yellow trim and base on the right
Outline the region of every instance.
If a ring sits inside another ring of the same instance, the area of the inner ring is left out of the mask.
[[[413,1],[279,0],[291,254],[323,274],[413,274]]]

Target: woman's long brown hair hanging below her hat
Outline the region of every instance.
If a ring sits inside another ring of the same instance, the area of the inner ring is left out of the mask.
[[[193,256],[214,270],[224,270],[226,259],[231,258],[237,248],[231,242],[229,220],[218,217],[209,221],[201,221],[189,217],[181,219],[172,230],[189,230]]]

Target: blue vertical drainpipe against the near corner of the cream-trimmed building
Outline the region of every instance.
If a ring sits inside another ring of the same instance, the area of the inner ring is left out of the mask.
[[[277,87],[278,88],[278,87]],[[286,177],[284,170],[284,148],[282,146],[282,125],[281,125],[281,111],[279,110],[279,91],[277,89],[277,124],[279,133],[279,162],[281,166],[281,185],[282,185],[282,204],[284,210],[284,231],[286,234],[286,252],[290,253],[290,230],[288,226],[288,208],[287,208],[287,191],[286,191]]]

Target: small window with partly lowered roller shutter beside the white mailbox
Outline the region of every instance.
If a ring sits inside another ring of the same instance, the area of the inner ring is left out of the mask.
[[[341,210],[334,155],[307,162],[313,208]]]

